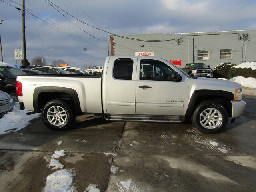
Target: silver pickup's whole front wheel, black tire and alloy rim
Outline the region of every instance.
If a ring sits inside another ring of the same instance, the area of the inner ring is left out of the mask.
[[[212,112],[210,109],[213,109]],[[215,110],[215,114],[214,114],[214,110]],[[209,116],[210,112],[212,116]],[[192,120],[192,124],[200,132],[216,133],[216,132],[220,132],[226,127],[228,123],[228,112],[224,108],[224,106],[220,103],[213,102],[213,101],[204,101],[198,104],[198,106],[196,106],[196,109],[192,114],[191,120]],[[200,121],[202,122],[202,124]]]

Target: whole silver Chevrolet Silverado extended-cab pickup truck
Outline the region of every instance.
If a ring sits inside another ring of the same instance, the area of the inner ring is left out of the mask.
[[[213,133],[242,115],[242,86],[191,77],[169,61],[148,56],[108,56],[101,75],[18,76],[21,108],[41,112],[46,126],[64,130],[83,113],[110,121],[182,123],[191,118]]]

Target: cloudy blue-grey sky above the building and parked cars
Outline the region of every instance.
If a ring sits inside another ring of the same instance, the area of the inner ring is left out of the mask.
[[[22,0],[3,1],[21,8],[19,4]],[[51,1],[78,19],[114,34],[256,29],[255,0]],[[50,23],[38,18],[34,18],[34,22],[32,15],[25,14],[27,58],[30,62],[33,57],[43,54],[47,64],[62,59],[70,66],[84,68],[84,48],[87,48],[87,59],[90,59],[91,66],[103,66],[108,54],[108,33],[96,30],[60,11],[70,22],[45,0],[25,0],[25,6],[37,17]],[[0,1],[1,19],[6,19],[0,24],[3,60],[16,64],[14,49],[22,48],[21,12]]]

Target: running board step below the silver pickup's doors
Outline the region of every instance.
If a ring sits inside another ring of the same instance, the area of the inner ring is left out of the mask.
[[[104,118],[109,121],[141,121],[141,122],[164,122],[164,123],[183,123],[185,116],[149,116],[149,115],[122,115],[105,114]]]

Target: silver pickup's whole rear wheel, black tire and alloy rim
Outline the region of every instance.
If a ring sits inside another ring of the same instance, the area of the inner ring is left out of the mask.
[[[56,109],[58,108],[58,109],[55,110],[54,108],[56,108]],[[54,112],[52,112],[52,110],[54,110]],[[64,112],[63,112],[63,110],[64,110]],[[57,111],[59,111],[59,112],[55,113]],[[65,113],[66,113],[66,116],[65,115],[62,116]],[[53,114],[52,117],[50,116],[51,114]],[[54,116],[54,115],[56,115],[56,116]],[[57,120],[57,118],[58,118],[58,120]],[[62,120],[65,120],[65,121],[62,121],[61,118],[62,118]],[[54,119],[52,122],[53,123],[55,122],[56,123],[55,125],[50,122],[50,120],[52,120],[52,119]],[[73,122],[75,120],[74,110],[72,110],[72,108],[66,102],[64,102],[62,100],[51,100],[48,103],[46,103],[42,109],[42,120],[43,120],[44,124],[52,130],[56,130],[56,131],[57,130],[58,131],[66,130],[73,124]]]

